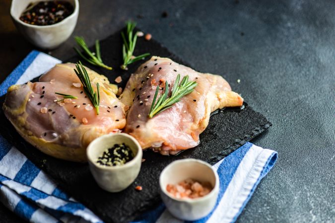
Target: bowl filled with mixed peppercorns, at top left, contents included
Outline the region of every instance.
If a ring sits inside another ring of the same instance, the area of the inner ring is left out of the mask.
[[[51,50],[72,34],[78,0],[12,0],[10,15],[17,30],[32,44]]]

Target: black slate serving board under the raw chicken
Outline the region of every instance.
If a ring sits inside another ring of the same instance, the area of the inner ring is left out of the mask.
[[[120,86],[124,87],[130,74],[142,61],[131,64],[128,71],[121,70],[119,68],[122,59],[121,43],[120,33],[101,41],[102,58],[108,65],[113,66],[112,71],[84,64],[106,75],[111,83],[117,76],[121,75],[123,82]],[[137,46],[135,55],[150,52],[151,55],[170,57],[187,65],[154,40],[144,41],[143,38],[139,38]],[[76,62],[78,59],[78,57],[72,57],[67,61]],[[0,98],[1,108],[3,101],[4,96]],[[199,146],[178,156],[170,157],[161,156],[151,151],[144,152],[143,158],[146,161],[142,163],[140,174],[135,182],[122,192],[109,193],[98,187],[87,164],[62,161],[41,153],[19,136],[5,118],[2,109],[0,110],[0,120],[2,124],[1,135],[38,167],[54,177],[67,193],[82,202],[105,222],[129,222],[139,217],[143,212],[157,206],[161,202],[158,177],[161,170],[172,161],[195,158],[215,164],[271,126],[266,117],[253,111],[247,104],[241,111],[224,110],[214,114],[210,118],[208,127],[200,136]],[[136,185],[141,185],[143,190],[136,191],[134,189]]]

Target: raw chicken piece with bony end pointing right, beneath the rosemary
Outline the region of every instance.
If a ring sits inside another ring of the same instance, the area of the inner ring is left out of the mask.
[[[197,82],[194,91],[181,98],[172,108],[148,117],[157,86],[159,95],[168,82],[171,93],[174,81],[182,79]],[[212,111],[225,107],[240,107],[243,98],[233,91],[219,75],[200,73],[169,58],[153,56],[132,74],[120,97],[130,106],[125,132],[134,136],[142,149],[153,148],[161,154],[176,154],[197,146],[199,135],[207,127]]]

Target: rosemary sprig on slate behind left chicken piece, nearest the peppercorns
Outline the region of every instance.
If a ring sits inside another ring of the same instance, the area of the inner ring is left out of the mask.
[[[96,40],[95,41],[95,53],[92,53],[89,49],[87,44],[85,43],[85,40],[83,37],[79,37],[79,36],[75,36],[74,37],[75,41],[77,42],[77,44],[80,46],[80,48],[84,51],[84,53],[81,53],[78,48],[74,47],[74,50],[77,52],[77,54],[79,56],[81,56],[83,59],[85,59],[87,62],[96,65],[96,66],[101,66],[104,67],[108,70],[113,69],[110,66],[105,65],[102,62],[101,59],[101,52],[100,52],[100,44],[99,41]],[[84,55],[85,54],[85,55]]]

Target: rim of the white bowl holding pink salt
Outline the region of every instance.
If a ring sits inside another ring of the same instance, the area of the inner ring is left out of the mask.
[[[179,164],[179,163],[187,163],[187,162],[194,162],[194,163],[199,163],[201,165],[204,165],[204,166],[207,166],[211,169],[211,171],[213,172],[214,174],[214,177],[215,177],[215,185],[213,186],[213,189],[208,193],[206,194],[205,196],[203,197],[198,197],[198,198],[176,198],[176,197],[173,197],[172,195],[170,195],[169,192],[167,192],[166,188],[163,187],[162,185],[162,177],[164,174],[166,174],[166,171],[169,167],[171,167],[172,165],[176,165],[176,164]],[[220,183],[220,180],[219,180],[219,176],[217,174],[217,172],[213,169],[212,166],[210,166],[208,163],[204,162],[204,161],[201,161],[201,160],[197,160],[197,159],[182,159],[182,160],[177,160],[177,161],[174,161],[172,163],[170,163],[168,166],[166,166],[162,172],[160,173],[160,176],[159,176],[159,187],[161,189],[161,191],[166,195],[168,196],[169,198],[175,200],[175,201],[178,201],[178,202],[187,202],[187,203],[197,203],[197,202],[201,202],[201,201],[204,201],[206,199],[210,199],[210,196],[214,196],[214,194],[216,192],[218,192],[218,187],[219,187],[219,183]]]

